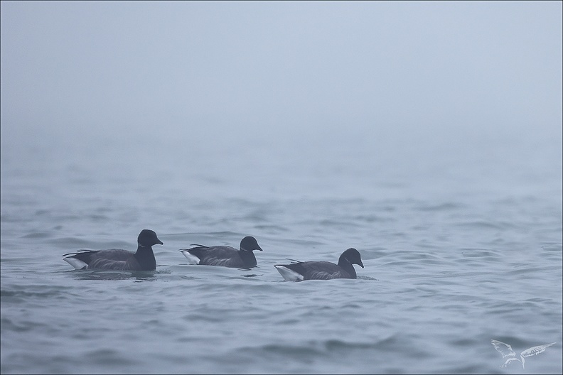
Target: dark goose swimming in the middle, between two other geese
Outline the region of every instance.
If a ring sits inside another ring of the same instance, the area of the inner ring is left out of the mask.
[[[257,265],[252,251],[262,248],[254,237],[247,236],[240,241],[240,249],[231,246],[203,246],[192,244],[190,249],[180,249],[191,264],[223,266],[233,268],[252,268]]]

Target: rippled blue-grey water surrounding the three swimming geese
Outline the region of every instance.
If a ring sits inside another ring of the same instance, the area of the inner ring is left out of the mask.
[[[1,372],[560,374],[561,139],[397,142],[5,146]],[[154,272],[62,260],[134,250],[144,228]],[[245,235],[251,271],[178,252]],[[357,280],[274,268],[352,246]],[[490,339],[556,344],[501,369]]]

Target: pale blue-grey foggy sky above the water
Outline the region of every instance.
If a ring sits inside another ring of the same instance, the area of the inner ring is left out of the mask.
[[[1,147],[545,134],[562,3],[1,3]]]

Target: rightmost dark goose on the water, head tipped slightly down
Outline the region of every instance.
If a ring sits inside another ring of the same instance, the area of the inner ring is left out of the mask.
[[[363,268],[358,250],[350,248],[342,253],[338,264],[328,261],[305,261],[276,264],[274,267],[286,281],[330,280],[332,278],[356,278],[353,264]]]

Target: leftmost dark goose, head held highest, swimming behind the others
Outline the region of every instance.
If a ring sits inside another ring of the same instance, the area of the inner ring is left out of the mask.
[[[112,269],[122,271],[153,271],[156,259],[152,246],[162,244],[156,233],[143,229],[137,237],[137,251],[108,249],[80,250],[63,255],[63,260],[76,269]]]

